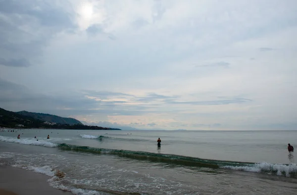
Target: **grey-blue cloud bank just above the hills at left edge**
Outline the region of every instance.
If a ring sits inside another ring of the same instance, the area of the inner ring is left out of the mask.
[[[26,86],[0,78],[1,107],[11,111],[27,110],[32,112],[48,112],[65,115],[77,114],[83,110],[94,108],[97,104],[92,99],[80,94],[46,95],[36,93]]]

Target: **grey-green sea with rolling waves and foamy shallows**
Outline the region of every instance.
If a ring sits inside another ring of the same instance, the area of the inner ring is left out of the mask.
[[[0,163],[76,195],[297,194],[297,131],[14,131]]]

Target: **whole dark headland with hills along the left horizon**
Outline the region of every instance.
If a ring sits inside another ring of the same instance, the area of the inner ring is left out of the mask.
[[[119,128],[84,125],[74,118],[55,115],[30,113],[27,111],[11,112],[0,108],[0,127],[7,128],[50,128],[50,129],[90,129],[121,130]]]

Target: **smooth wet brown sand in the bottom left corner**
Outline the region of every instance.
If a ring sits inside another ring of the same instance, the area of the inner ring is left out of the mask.
[[[72,195],[49,186],[48,176],[0,165],[0,195]]]

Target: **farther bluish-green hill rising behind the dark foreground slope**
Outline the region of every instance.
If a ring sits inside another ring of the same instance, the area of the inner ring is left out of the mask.
[[[75,118],[59,117],[56,115],[49,115],[49,114],[43,114],[43,113],[31,113],[31,112],[27,112],[27,111],[20,111],[20,112],[16,112],[16,113],[19,115],[26,116],[26,117],[32,117],[35,119],[44,120],[44,121],[48,121],[48,122],[55,122],[55,123],[59,123],[59,124],[70,124],[70,125],[83,124]]]

